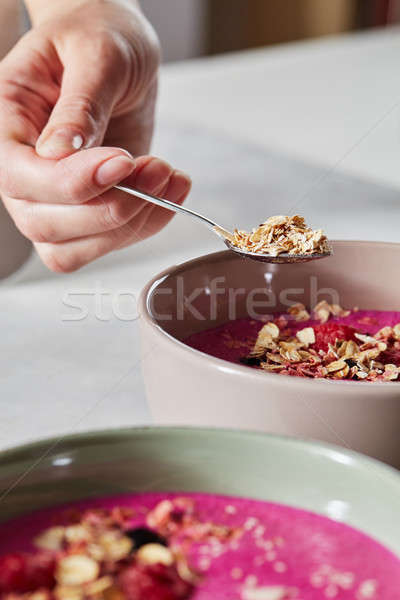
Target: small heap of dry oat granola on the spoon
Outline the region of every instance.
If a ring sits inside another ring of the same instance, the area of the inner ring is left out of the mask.
[[[318,229],[307,227],[303,217],[270,217],[251,232],[235,229],[232,243],[247,252],[278,256],[311,255],[330,252],[328,240]]]

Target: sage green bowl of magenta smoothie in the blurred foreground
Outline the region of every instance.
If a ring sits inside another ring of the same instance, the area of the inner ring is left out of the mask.
[[[338,447],[83,434],[3,453],[0,491],[1,600],[398,598],[400,477]]]

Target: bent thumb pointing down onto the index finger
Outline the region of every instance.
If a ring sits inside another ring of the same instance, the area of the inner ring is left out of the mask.
[[[60,159],[100,146],[120,96],[127,69],[111,35],[62,48],[64,72],[60,96],[36,143],[44,158]],[[117,78],[117,74],[119,77]]]

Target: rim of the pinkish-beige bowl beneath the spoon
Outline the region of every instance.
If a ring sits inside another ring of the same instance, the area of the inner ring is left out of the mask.
[[[330,240],[333,244],[333,251],[335,250],[335,246],[375,246],[375,247],[387,247],[392,248],[393,250],[399,252],[400,251],[400,243],[397,242],[379,242],[379,241],[368,241],[368,240]],[[296,385],[301,389],[310,389],[312,386],[314,389],[316,386],[326,387],[326,386],[340,386],[343,389],[343,386],[349,389],[358,389],[360,390],[360,386],[363,386],[362,389],[365,391],[365,394],[376,394],[376,390],[380,389],[382,396],[386,393],[390,392],[390,395],[394,389],[397,389],[400,394],[400,381],[336,381],[332,379],[309,379],[306,377],[292,377],[290,375],[279,375],[275,373],[268,372],[260,372],[258,369],[250,369],[246,365],[240,365],[236,363],[231,363],[222,358],[218,358],[216,356],[211,356],[206,352],[202,352],[201,350],[196,350],[185,344],[184,342],[178,340],[173,335],[165,331],[161,325],[159,325],[154,317],[151,314],[149,309],[149,299],[153,290],[156,286],[165,280],[167,277],[178,275],[182,271],[186,271],[188,267],[195,266],[199,264],[200,261],[205,262],[215,262],[222,257],[226,257],[229,259],[228,255],[231,256],[231,260],[238,260],[238,256],[235,255],[231,250],[220,250],[218,252],[210,252],[208,254],[200,255],[196,258],[192,258],[190,260],[184,261],[177,265],[173,265],[168,267],[167,269],[161,271],[157,275],[155,275],[142,289],[139,296],[139,320],[144,321],[147,325],[149,325],[154,333],[160,336],[160,339],[167,341],[169,340],[174,344],[176,349],[180,352],[183,352],[186,356],[194,356],[196,360],[200,361],[202,364],[208,364],[209,368],[223,370],[225,372],[229,372],[232,375],[240,376],[241,378],[247,377],[249,380],[260,381],[260,377],[264,378],[264,381],[272,381],[274,385],[278,386],[287,386],[287,385]],[[289,383],[290,382],[290,383]]]

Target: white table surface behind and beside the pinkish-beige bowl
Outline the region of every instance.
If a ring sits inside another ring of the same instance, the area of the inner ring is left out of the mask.
[[[399,55],[393,29],[166,66],[153,151],[193,174],[188,204],[226,225],[295,205],[330,237],[400,241]],[[121,320],[112,298],[137,297],[163,268],[218,249],[181,217],[78,273],[51,274],[33,257],[3,281],[0,447],[148,423],[133,300]],[[97,287],[108,293],[103,320]],[[65,320],[76,312],[63,298],[76,293],[89,294],[89,314]]]

